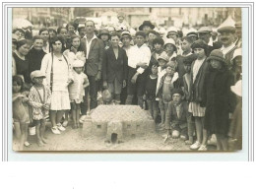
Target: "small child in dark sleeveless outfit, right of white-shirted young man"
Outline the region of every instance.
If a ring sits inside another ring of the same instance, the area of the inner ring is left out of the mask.
[[[158,101],[156,100],[156,89],[158,83],[158,66],[152,66],[152,74],[146,80],[146,99],[149,106],[150,113],[157,122],[158,117]]]

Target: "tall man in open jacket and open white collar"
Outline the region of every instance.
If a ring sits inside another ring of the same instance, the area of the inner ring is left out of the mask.
[[[84,50],[87,57],[85,73],[88,75],[90,82],[90,109],[92,110],[96,108],[97,105],[96,94],[98,82],[101,79],[104,43],[101,39],[96,37],[96,27],[94,21],[88,20],[85,24],[85,30],[86,35],[81,39],[81,48]],[[86,104],[87,100],[84,100],[84,103]],[[85,104],[81,107],[83,116],[86,115]]]

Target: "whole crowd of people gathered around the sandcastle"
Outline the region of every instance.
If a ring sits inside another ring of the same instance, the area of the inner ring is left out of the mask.
[[[149,110],[164,141],[180,138],[191,150],[241,149],[241,25],[166,34],[144,21],[137,32],[122,14],[113,27],[13,31],[13,124],[20,150],[53,134],[81,127],[98,104],[138,104]],[[102,102],[100,102],[102,99]],[[232,144],[232,145],[228,145]]]

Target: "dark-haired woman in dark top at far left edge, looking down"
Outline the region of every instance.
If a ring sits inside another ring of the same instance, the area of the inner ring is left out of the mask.
[[[17,47],[13,53],[13,65],[16,68],[16,74],[13,75],[20,75],[24,79],[25,84],[31,83],[29,72],[29,60],[27,57],[30,49],[30,41],[27,39],[22,39],[17,41]]]

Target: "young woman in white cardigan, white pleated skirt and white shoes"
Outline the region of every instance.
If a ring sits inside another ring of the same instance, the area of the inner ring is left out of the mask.
[[[51,90],[50,121],[52,132],[60,134],[65,128],[60,123],[65,110],[70,109],[68,86],[73,82],[71,64],[63,55],[64,39],[54,36],[50,41],[52,52],[41,61],[41,71],[46,76],[46,86]],[[60,131],[59,131],[60,130]]]

